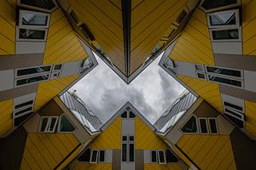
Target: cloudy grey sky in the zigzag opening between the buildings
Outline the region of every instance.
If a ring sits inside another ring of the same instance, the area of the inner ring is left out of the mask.
[[[130,101],[154,124],[185,90],[158,65],[161,56],[127,85],[96,55],[99,65],[74,84],[70,91],[75,89],[79,98],[103,123]]]

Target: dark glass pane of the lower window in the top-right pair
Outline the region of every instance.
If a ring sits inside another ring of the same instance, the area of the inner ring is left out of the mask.
[[[239,39],[238,29],[212,31],[214,40]]]

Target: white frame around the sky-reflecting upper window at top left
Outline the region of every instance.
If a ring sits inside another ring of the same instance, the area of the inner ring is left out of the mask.
[[[37,25],[23,25],[22,24],[22,14],[40,14],[40,15],[44,15],[47,18],[47,23],[45,26],[37,26]],[[28,29],[32,29],[32,28],[48,28],[49,27],[49,19],[50,19],[50,14],[48,13],[42,13],[42,12],[35,12],[35,11],[30,11],[30,10],[23,10],[23,9],[20,9],[20,14],[19,14],[19,26],[22,27],[22,28],[28,28]]]

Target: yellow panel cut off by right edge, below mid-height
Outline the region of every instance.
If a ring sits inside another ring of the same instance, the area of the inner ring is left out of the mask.
[[[246,107],[246,130],[253,137],[256,137],[256,103],[245,100]]]

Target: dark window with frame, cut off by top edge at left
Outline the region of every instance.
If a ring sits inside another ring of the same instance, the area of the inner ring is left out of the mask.
[[[57,7],[53,0],[18,0],[18,4],[26,8],[43,9],[47,12],[52,12]]]

